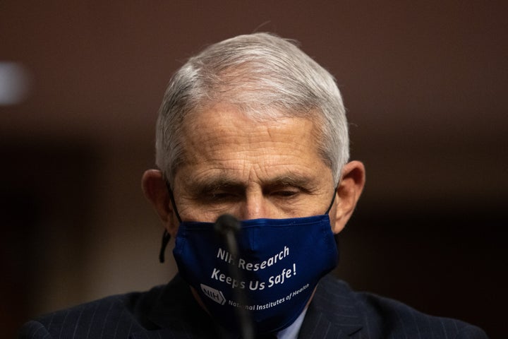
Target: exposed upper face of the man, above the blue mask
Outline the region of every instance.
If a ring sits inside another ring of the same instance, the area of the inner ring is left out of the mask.
[[[173,185],[183,221],[214,222],[224,213],[240,220],[297,218],[329,207],[332,171],[317,152],[312,121],[258,122],[225,105],[191,121],[183,130],[186,162]]]

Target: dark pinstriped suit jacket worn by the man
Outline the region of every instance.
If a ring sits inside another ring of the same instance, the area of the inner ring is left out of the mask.
[[[176,275],[149,292],[99,299],[25,323],[20,338],[218,338],[210,317]],[[323,278],[298,338],[487,338],[475,326],[422,314]]]

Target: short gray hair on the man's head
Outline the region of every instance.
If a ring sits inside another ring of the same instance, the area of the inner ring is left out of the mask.
[[[318,150],[335,184],[349,160],[346,112],[334,77],[296,44],[268,33],[239,35],[191,57],[169,81],[159,109],[156,164],[172,183],[185,161],[186,117],[215,103],[253,119],[315,121]]]

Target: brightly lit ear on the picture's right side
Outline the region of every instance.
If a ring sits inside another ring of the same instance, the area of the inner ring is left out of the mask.
[[[351,161],[342,169],[341,181],[337,186],[335,220],[332,225],[334,234],[344,230],[353,214],[356,203],[365,185],[365,167],[359,161]]]

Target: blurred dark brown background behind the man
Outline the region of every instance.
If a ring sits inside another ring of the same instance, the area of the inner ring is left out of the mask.
[[[171,73],[277,32],[337,77],[368,184],[341,234],[357,290],[506,330],[506,1],[0,1],[0,328],[165,283],[140,190]],[[167,256],[170,256],[168,253]]]

